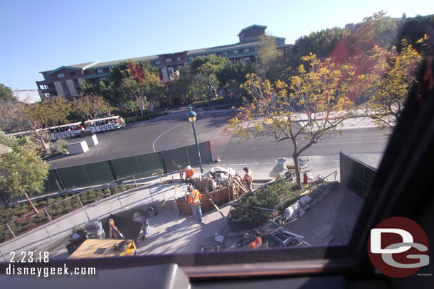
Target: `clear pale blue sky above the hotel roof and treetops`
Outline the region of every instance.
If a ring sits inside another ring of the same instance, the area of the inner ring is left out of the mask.
[[[378,11],[434,13],[423,1],[0,1],[0,83],[36,89],[38,72],[237,43],[252,24],[294,43]]]

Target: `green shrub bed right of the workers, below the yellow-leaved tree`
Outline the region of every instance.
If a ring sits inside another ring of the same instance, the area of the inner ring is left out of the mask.
[[[241,197],[228,214],[231,229],[253,229],[268,221],[270,212],[265,209],[285,209],[300,191],[297,185],[286,180],[277,180],[252,195]]]

